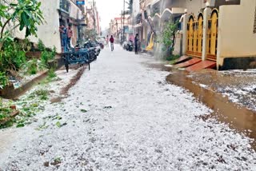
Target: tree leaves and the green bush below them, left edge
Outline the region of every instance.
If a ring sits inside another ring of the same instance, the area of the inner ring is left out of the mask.
[[[1,73],[16,72],[26,62],[26,50],[30,50],[29,41],[16,42],[11,33],[19,27],[19,30],[25,30],[26,37],[30,35],[37,36],[37,26],[42,24],[43,20],[40,6],[41,2],[38,2],[38,0],[0,2]],[[4,80],[6,82],[6,78]]]

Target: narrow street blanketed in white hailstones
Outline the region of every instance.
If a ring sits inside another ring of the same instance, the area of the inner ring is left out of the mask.
[[[1,171],[256,170],[248,137],[203,121],[210,109],[168,84],[170,72],[145,65],[153,58],[114,48],[37,121],[1,130],[11,139],[0,150]]]

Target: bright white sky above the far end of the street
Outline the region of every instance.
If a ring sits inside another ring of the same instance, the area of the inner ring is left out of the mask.
[[[123,10],[123,0],[95,0],[95,2],[101,18],[102,30],[105,30],[110,26],[111,19],[120,16]]]

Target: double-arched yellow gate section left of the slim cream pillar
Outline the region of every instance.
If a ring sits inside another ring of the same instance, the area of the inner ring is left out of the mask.
[[[193,15],[190,15],[187,23],[187,55],[202,58],[202,26],[202,13],[198,14],[197,20],[194,19]]]

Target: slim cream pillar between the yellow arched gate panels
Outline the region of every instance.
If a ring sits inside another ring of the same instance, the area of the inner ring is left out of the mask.
[[[202,61],[206,61],[207,55],[207,31],[208,31],[208,18],[211,12],[210,3],[206,2],[206,9],[203,10],[203,28],[202,28]]]

